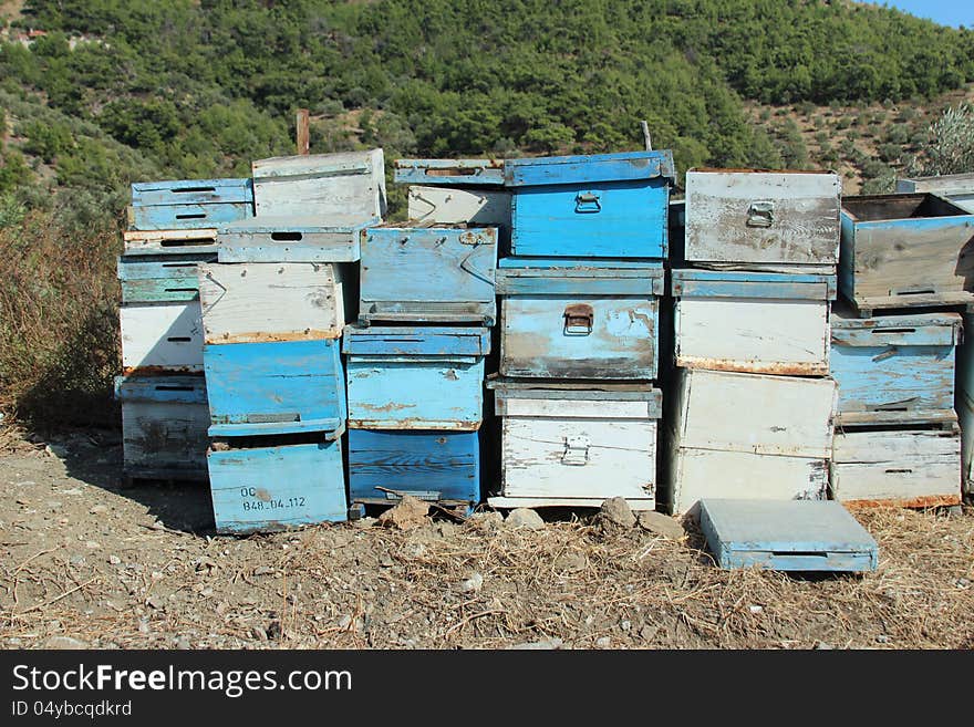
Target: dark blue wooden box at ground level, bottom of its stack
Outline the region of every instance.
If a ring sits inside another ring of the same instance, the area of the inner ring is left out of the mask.
[[[480,501],[478,433],[349,429],[349,492],[352,502],[362,503],[392,505],[412,495],[441,503],[476,505]]]

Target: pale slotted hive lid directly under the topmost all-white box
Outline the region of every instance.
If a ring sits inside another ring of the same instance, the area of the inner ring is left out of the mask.
[[[377,217],[259,217],[219,228],[220,262],[355,262],[359,236]]]

